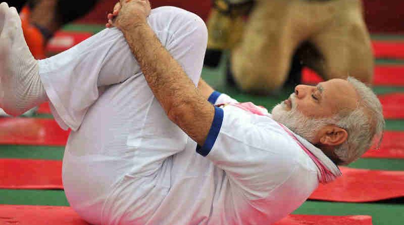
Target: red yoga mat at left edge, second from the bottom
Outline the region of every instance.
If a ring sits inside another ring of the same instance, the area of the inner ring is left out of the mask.
[[[0,159],[2,189],[63,189],[62,161]]]

